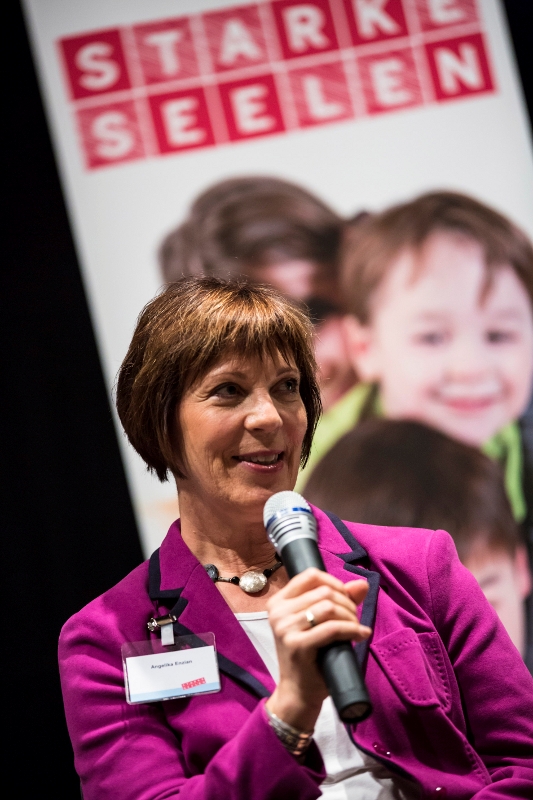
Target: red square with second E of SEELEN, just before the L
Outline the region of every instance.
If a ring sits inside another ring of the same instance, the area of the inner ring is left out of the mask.
[[[285,130],[272,75],[219,84],[230,139],[251,139]]]

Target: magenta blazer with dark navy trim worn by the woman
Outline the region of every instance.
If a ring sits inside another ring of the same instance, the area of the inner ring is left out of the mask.
[[[357,646],[374,704],[351,733],[422,798],[533,797],[533,679],[443,531],[342,523],[314,509],[328,571],[370,583]],[[222,690],[130,706],[123,642],[172,611],[176,635],[213,632]],[[65,625],[61,680],[85,800],[311,800],[316,745],[300,765],[267,724],[274,682],[174,523],[150,562]]]

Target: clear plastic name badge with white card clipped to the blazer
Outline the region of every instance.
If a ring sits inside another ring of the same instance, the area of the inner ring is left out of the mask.
[[[159,639],[128,642],[122,663],[130,704],[220,691],[214,633],[178,636],[168,647]]]

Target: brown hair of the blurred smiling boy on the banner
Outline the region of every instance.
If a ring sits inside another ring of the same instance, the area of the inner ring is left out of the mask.
[[[347,227],[341,262],[349,311],[363,324],[372,299],[391,263],[405,249],[420,251],[437,231],[478,242],[483,248],[487,283],[498,267],[510,264],[533,305],[533,247],[526,234],[492,208],[456,192],[429,192]]]

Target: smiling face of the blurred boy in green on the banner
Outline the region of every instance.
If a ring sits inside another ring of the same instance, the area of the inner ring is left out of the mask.
[[[348,318],[356,370],[380,384],[387,416],[476,446],[520,416],[533,378],[531,304],[510,265],[483,295],[486,274],[477,242],[435,233],[392,264],[368,326]]]

